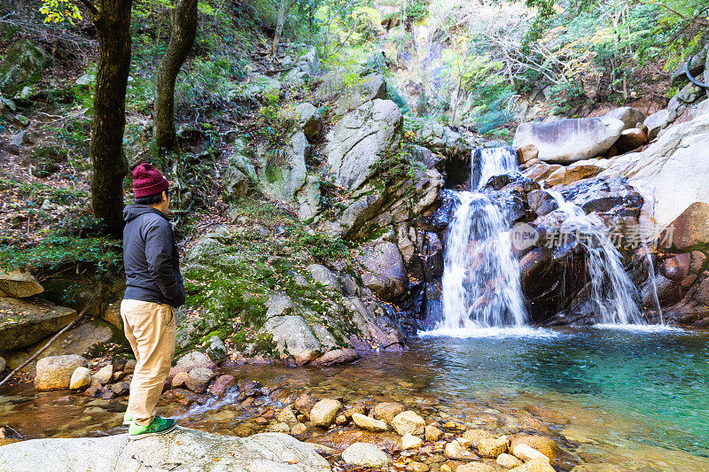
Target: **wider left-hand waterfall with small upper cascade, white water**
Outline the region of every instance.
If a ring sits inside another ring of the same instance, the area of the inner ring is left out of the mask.
[[[444,319],[435,330],[520,327],[526,307],[512,254],[510,221],[479,189],[499,174],[517,172],[511,148],[476,150],[472,192],[452,192],[456,210],[448,226],[443,271]]]

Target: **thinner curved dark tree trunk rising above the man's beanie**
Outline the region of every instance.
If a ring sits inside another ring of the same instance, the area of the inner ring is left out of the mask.
[[[175,134],[175,80],[197,35],[197,0],[178,0],[168,50],[160,60],[155,92],[155,144],[158,152],[179,151]]]

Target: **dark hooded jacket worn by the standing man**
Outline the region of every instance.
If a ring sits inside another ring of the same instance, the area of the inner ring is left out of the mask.
[[[172,226],[160,210],[129,205],[123,210],[123,298],[178,307],[184,303],[180,256]]]

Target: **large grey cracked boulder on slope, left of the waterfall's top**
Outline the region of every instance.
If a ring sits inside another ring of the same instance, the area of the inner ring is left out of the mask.
[[[402,116],[391,100],[376,99],[348,112],[327,135],[327,162],[336,182],[355,190],[372,175],[372,167],[396,152]]]

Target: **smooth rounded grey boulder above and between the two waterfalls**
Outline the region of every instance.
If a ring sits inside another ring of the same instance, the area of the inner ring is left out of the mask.
[[[604,154],[624,127],[623,121],[606,117],[522,123],[517,127],[514,146],[534,144],[539,159],[566,164]]]

